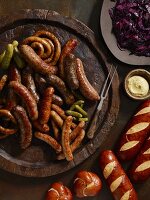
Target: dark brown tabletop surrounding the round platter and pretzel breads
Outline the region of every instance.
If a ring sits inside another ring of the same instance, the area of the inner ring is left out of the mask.
[[[102,178],[102,174],[98,165],[100,151],[103,149],[114,148],[123,127],[140,103],[129,99],[124,93],[122,86],[126,74],[136,67],[125,65],[116,60],[111,55],[102,39],[99,27],[99,15],[102,2],[102,0],[0,0],[0,15],[9,13],[11,14],[11,12],[25,8],[43,8],[55,10],[62,15],[68,15],[70,17],[77,18],[88,25],[94,31],[99,46],[104,51],[108,59],[119,66],[117,71],[120,78],[121,98],[120,111],[116,123],[111,130],[110,137],[107,138],[105,143],[93,156],[91,156],[78,167],[66,173],[47,178],[24,178],[0,170],[0,200],[44,200],[46,191],[51,183],[55,181],[62,181],[67,186],[72,187],[73,177],[75,173],[81,169],[94,171]],[[142,66],[142,68],[144,68],[144,66]],[[126,166],[124,167],[126,168]],[[103,178],[102,181],[103,190],[99,196],[86,199],[112,199],[112,196],[106,187],[106,183],[104,182]],[[147,200],[149,199],[148,195],[150,181],[147,181],[144,184],[135,185],[135,188],[138,192],[139,200],[143,200],[144,198]]]

